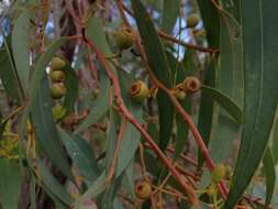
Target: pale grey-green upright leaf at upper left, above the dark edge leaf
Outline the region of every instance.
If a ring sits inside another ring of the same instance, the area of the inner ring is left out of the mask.
[[[29,72],[30,72],[29,24],[30,24],[30,11],[24,10],[21,13],[21,15],[16,19],[12,32],[12,53],[21,85],[25,91],[29,86]]]

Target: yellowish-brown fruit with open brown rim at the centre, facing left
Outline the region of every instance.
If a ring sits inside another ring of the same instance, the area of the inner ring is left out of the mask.
[[[142,80],[135,81],[130,88],[130,96],[133,101],[143,102],[148,96],[148,88]]]

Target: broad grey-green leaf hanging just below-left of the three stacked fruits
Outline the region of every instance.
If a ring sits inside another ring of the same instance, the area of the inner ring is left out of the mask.
[[[62,147],[59,136],[54,124],[52,114],[52,102],[49,95],[49,87],[46,73],[43,72],[44,77],[40,79],[40,92],[34,98],[31,106],[31,119],[34,127],[36,141],[42,150],[47,154],[49,160],[64,175],[74,179],[70,172],[66,153]]]

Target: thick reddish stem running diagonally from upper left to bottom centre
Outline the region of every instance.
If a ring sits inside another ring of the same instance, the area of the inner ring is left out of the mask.
[[[85,42],[88,44],[89,48],[96,53],[98,59],[103,65],[108,77],[110,78],[110,81],[112,86],[114,87],[114,97],[118,103],[118,107],[120,111],[126,117],[126,119],[141,132],[141,134],[144,136],[144,139],[148,142],[148,144],[153,147],[153,150],[156,152],[157,156],[163,161],[165,166],[169,169],[171,175],[177,179],[177,182],[182,186],[185,191],[188,195],[188,198],[190,199],[192,205],[198,204],[198,198],[192,189],[191,186],[189,186],[180,176],[176,167],[171,164],[171,162],[165,156],[165,154],[162,152],[162,150],[157,146],[157,144],[154,142],[154,140],[151,138],[151,135],[145,131],[145,129],[138,123],[138,121],[133,117],[133,114],[127,110],[125,107],[122,96],[121,96],[121,88],[118,80],[118,77],[114,75],[114,73],[110,69],[110,66],[108,62],[105,61],[104,56],[101,54],[101,52],[94,46],[92,42],[87,40],[85,37]]]

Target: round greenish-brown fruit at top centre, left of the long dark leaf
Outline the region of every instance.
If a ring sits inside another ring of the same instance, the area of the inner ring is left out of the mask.
[[[132,29],[123,26],[114,32],[114,40],[118,47],[123,51],[130,48],[135,41],[135,33]]]

